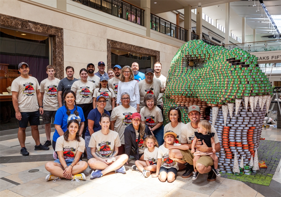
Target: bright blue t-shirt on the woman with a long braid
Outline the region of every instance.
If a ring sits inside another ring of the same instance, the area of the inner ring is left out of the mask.
[[[83,113],[82,108],[77,106],[77,111],[79,114],[78,116],[75,115],[75,113],[74,113],[75,110],[76,110],[76,107],[74,105],[74,108],[72,110],[70,110],[70,115],[67,115],[66,107],[65,106],[60,107],[56,112],[54,124],[61,125],[61,129],[63,130],[63,132],[66,132],[67,124],[70,120],[77,119],[79,124],[81,122],[85,122],[84,113]],[[55,133],[53,135],[53,140],[56,142],[58,137],[60,137],[60,135],[59,135],[58,131],[55,129]]]

